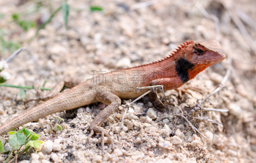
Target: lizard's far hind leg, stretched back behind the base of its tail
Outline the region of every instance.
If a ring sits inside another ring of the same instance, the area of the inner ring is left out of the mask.
[[[46,101],[46,100],[49,100],[51,99],[52,97],[54,96],[57,96],[60,91],[62,90],[62,88],[64,86],[68,87],[68,88],[73,88],[74,86],[78,85],[82,83],[82,80],[80,79],[76,79],[76,78],[68,78],[68,77],[65,77],[63,78],[62,80],[60,80],[52,89],[49,93],[47,94],[44,94],[40,89],[36,88],[34,85],[34,89],[36,90],[37,94],[39,94],[39,97],[38,98],[35,98],[35,99],[29,99],[27,101],[25,101],[25,104],[30,102],[30,101],[39,101],[39,100],[42,100],[42,101]]]

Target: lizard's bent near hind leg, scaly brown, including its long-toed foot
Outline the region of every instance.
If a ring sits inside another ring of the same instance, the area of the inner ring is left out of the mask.
[[[109,115],[111,115],[120,106],[121,100],[119,97],[117,97],[116,95],[110,92],[97,92],[96,97],[98,101],[108,106],[105,107],[91,122],[90,124],[91,133],[88,136],[88,138],[92,137],[94,132],[98,132],[101,134],[101,139],[102,139],[101,148],[102,148],[102,156],[103,156],[104,135],[106,135],[109,138],[112,144],[112,150],[114,150],[114,141],[112,140],[108,132],[102,127],[100,127],[100,125],[108,118]]]

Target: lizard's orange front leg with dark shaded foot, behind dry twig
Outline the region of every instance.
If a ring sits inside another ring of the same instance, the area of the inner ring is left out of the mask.
[[[182,82],[180,81],[179,78],[161,78],[161,79],[152,80],[150,82],[150,86],[164,85],[164,90],[170,90],[170,89],[176,89],[181,85],[183,85],[180,83]],[[165,105],[163,105],[163,103],[158,99],[157,94],[153,90],[149,93],[149,97],[150,97],[150,102],[152,102],[153,106],[158,110],[164,111],[164,109],[168,108]]]

